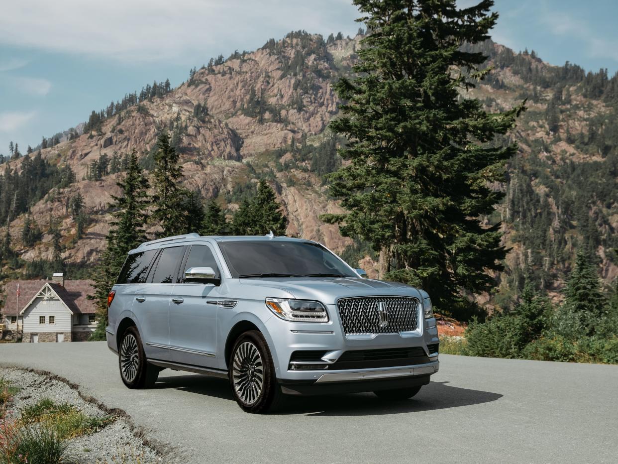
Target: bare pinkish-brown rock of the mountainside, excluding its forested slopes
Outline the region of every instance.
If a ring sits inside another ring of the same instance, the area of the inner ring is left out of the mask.
[[[111,195],[117,193],[115,183],[122,174],[103,176],[97,181],[85,180],[89,166],[101,155],[112,157],[131,150],[137,150],[147,160],[157,135],[167,129],[177,136],[184,183],[188,188],[203,197],[219,197],[233,211],[237,208],[235,189],[255,182],[257,173],[269,173],[268,179],[290,220],[287,233],[343,251],[352,241],[343,238],[337,226],[326,225],[319,219],[321,213],[338,212],[341,208],[327,197],[323,180],[312,170],[311,161],[299,157],[295,150],[299,145],[319,145],[331,137],[326,127],[337,114],[332,83],[350,72],[359,40],[360,37],[344,38],[327,45],[321,37],[303,33],[292,33],[280,41],[271,40],[253,53],[238,54],[223,64],[198,70],[164,97],[152,98],[106,119],[98,131],[42,150],[43,157],[50,162],[69,165],[77,182],[66,189],[49,192],[33,205],[32,217],[43,231],[48,228],[50,218],[61,220],[67,262],[95,262],[108,231],[107,204]],[[489,46],[494,60],[504,53],[502,46]],[[541,75],[556,69],[535,57],[523,56],[521,60]],[[563,114],[561,122],[554,131],[548,130],[546,113],[552,90],[536,88],[518,70],[515,65],[499,66],[491,82],[481,83],[469,95],[481,98],[490,110],[510,108],[529,94],[536,95],[528,101],[528,111],[514,131],[514,138],[520,142],[522,163],[537,153],[550,165],[589,163],[595,157],[602,158],[572,142],[569,134],[587,131],[593,116],[609,113],[603,101],[585,98],[576,84],[571,85],[569,103],[557,103]],[[196,111],[197,105],[206,111]],[[538,150],[539,146],[543,149]],[[19,170],[19,161],[12,161],[11,167]],[[509,169],[515,170],[514,165]],[[533,178],[529,180],[533,190],[542,195],[543,184]],[[497,187],[510,194],[509,184]],[[83,195],[93,220],[85,237],[74,243],[75,225],[67,204],[77,192]],[[616,230],[616,199],[603,201],[603,208],[614,212],[607,215],[609,229]],[[548,204],[557,220],[562,220],[560,205]],[[505,243],[512,246],[508,262],[516,266],[523,262],[526,247],[514,233],[515,218],[509,216],[511,213],[508,202],[496,212],[505,222]],[[23,217],[11,223],[11,233],[22,258],[51,257],[48,234],[32,249],[20,247],[22,225]],[[601,252],[605,256],[605,250]],[[368,258],[363,265],[373,269]],[[616,276],[617,268],[611,257],[604,257],[603,265],[608,280]],[[559,277],[556,285],[558,288],[561,285]]]

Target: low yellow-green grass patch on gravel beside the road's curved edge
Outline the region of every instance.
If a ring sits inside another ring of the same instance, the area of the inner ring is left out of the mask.
[[[24,426],[38,424],[54,431],[61,439],[72,439],[99,431],[111,424],[112,416],[88,416],[68,403],[54,403],[42,398],[22,410],[20,422]]]

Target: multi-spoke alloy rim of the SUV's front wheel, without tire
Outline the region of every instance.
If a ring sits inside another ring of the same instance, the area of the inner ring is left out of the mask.
[[[264,368],[262,356],[252,342],[241,343],[234,354],[232,365],[234,389],[240,400],[252,405],[262,392],[264,386]]]

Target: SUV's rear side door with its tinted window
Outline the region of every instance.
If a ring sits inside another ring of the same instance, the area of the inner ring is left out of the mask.
[[[133,312],[140,322],[147,358],[171,359],[169,301],[184,255],[184,246],[161,248],[148,271],[146,283],[135,293]]]

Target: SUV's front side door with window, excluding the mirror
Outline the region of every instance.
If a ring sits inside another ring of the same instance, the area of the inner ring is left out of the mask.
[[[172,291],[169,306],[169,336],[174,361],[193,366],[217,366],[217,311],[221,299],[219,286],[187,282],[185,271],[192,267],[212,267],[218,278],[218,265],[211,247],[192,245],[182,265],[179,281]]]

